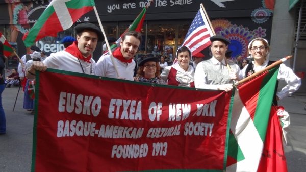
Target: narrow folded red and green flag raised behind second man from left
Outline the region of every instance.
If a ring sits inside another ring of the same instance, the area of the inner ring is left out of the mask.
[[[145,18],[145,13],[146,13],[146,10],[149,6],[147,5],[146,7],[144,7],[142,9],[142,11],[138,14],[137,18],[133,21],[133,23],[129,26],[129,28],[127,28],[124,33],[120,36],[120,38],[116,41],[116,43],[114,43],[113,45],[110,45],[111,47],[111,50],[112,52],[114,50],[116,50],[118,47],[120,47],[120,42],[122,40],[122,37],[123,35],[126,33],[126,32],[129,32],[129,31],[138,31],[138,32],[141,32],[141,28],[142,28],[142,24],[143,24],[143,21],[144,21],[144,18]],[[109,54],[108,52],[106,52],[104,55],[107,55]]]

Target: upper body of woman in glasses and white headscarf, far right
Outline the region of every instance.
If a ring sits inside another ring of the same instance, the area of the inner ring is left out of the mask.
[[[249,54],[252,55],[254,61],[247,64],[242,69],[243,77],[252,75],[254,72],[258,72],[268,65],[274,63],[274,61],[269,60],[270,47],[268,41],[263,38],[253,39],[248,45]],[[292,94],[301,85],[301,80],[298,78],[291,68],[287,67],[284,63],[279,66],[277,80],[283,80],[287,85],[282,88],[281,91],[277,92],[275,99],[273,101],[274,105],[277,105],[277,101],[283,99],[284,97]],[[277,83],[278,85],[278,83]]]

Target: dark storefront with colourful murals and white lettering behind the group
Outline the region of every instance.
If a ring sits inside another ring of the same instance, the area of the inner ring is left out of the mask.
[[[27,52],[22,42],[23,34],[39,18],[48,1],[1,1],[0,30],[10,42],[17,42],[18,54]],[[37,2],[37,3],[36,3]],[[232,57],[247,57],[248,42],[257,37],[270,41],[274,0],[233,0],[227,2],[203,0],[159,0],[147,9],[142,28],[142,41],[138,53],[167,53],[167,49],[177,50],[190,27],[195,14],[205,7],[216,34],[230,39]],[[148,1],[95,1],[97,11],[107,36],[118,38]],[[11,9],[11,10],[10,10]],[[12,14],[10,14],[12,11]],[[11,16],[11,17],[10,17]],[[10,19],[11,18],[11,19]],[[65,36],[74,36],[74,26],[81,22],[92,22],[98,26],[94,11],[82,16],[68,30],[58,33],[57,37],[46,37],[36,43],[47,54],[62,50],[61,40]],[[97,60],[102,54],[102,44],[98,43],[93,58]],[[206,58],[210,57],[209,48],[203,50]]]

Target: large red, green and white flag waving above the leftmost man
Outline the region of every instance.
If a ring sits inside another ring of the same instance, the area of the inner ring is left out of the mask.
[[[93,9],[94,0],[53,0],[38,18],[34,26],[24,34],[25,47],[33,45],[46,36],[57,36],[58,32],[72,26],[82,15]]]

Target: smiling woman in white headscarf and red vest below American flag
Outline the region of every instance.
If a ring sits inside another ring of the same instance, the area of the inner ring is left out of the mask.
[[[168,85],[194,87],[194,68],[189,65],[191,51],[187,46],[180,47],[176,52],[178,64],[165,67],[161,78]]]

